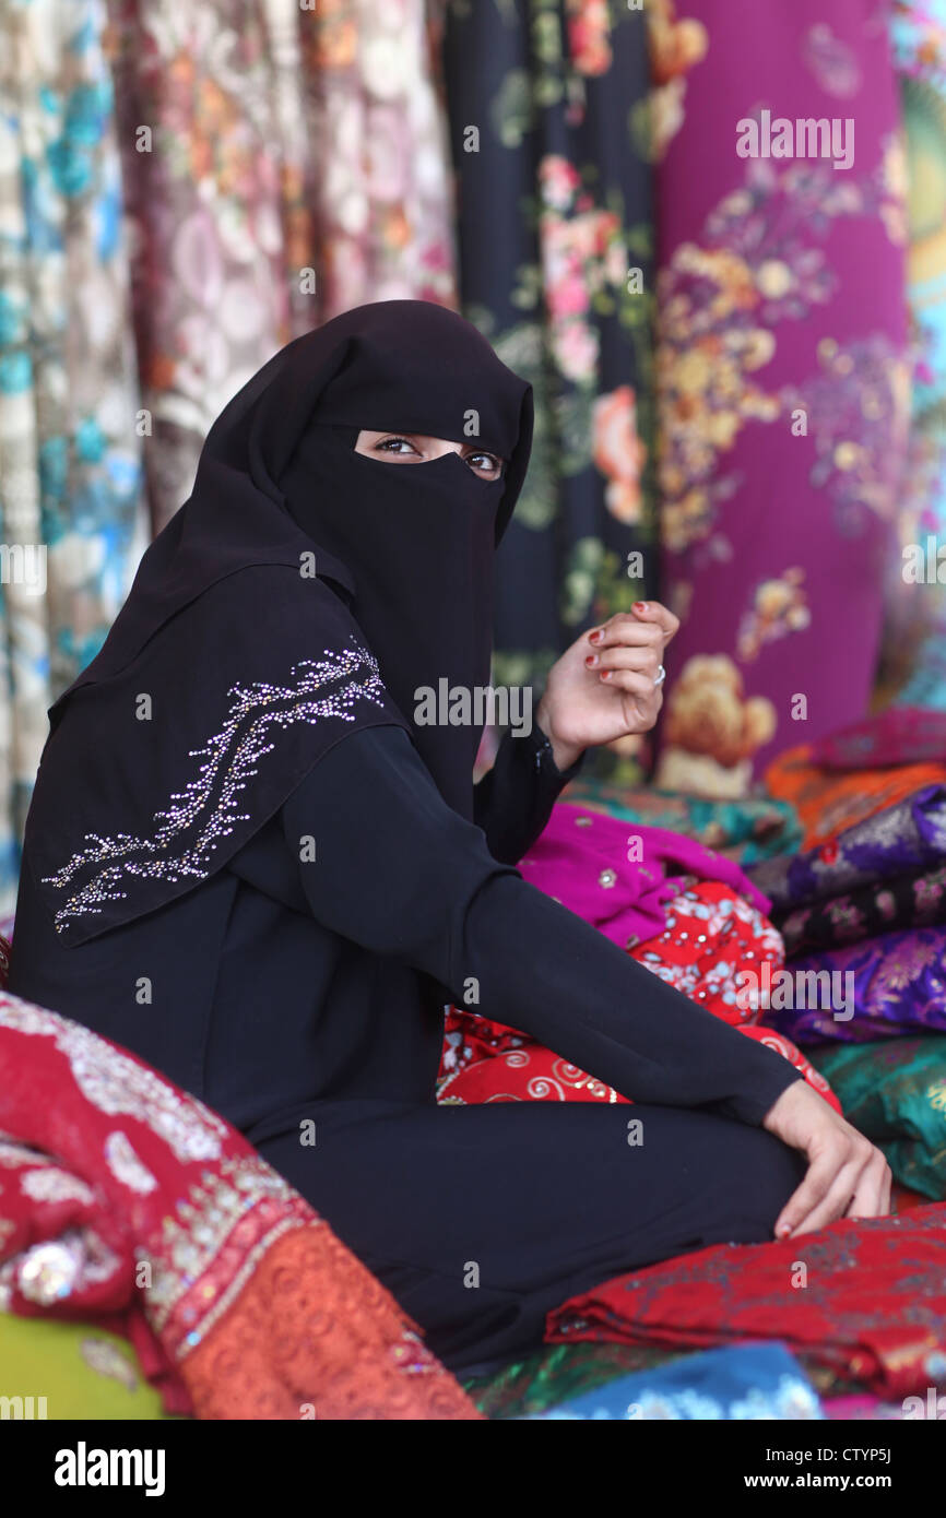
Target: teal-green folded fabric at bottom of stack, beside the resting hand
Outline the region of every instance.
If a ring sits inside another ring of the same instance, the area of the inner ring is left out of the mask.
[[[825,1044],[808,1058],[844,1116],[887,1155],[894,1181],[946,1199],[946,1034]]]

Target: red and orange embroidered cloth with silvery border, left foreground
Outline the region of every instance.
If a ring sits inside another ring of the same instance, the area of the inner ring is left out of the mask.
[[[169,1412],[480,1416],[389,1292],[229,1123],[9,993],[0,1310],[128,1333]]]

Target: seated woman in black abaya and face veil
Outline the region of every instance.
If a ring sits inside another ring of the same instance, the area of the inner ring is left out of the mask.
[[[472,785],[530,437],[528,386],[427,304],[260,370],[50,709],[11,967],[240,1128],[454,1369],[621,1271],[890,1192],[787,1061],[513,868],[582,748],[653,724],[664,609],[571,648]],[[448,1000],[638,1105],[437,1107]]]

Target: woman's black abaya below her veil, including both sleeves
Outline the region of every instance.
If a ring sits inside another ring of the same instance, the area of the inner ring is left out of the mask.
[[[228,868],[111,934],[67,949],[21,880],[11,988],[241,1128],[454,1369],[534,1346],[548,1310],[621,1271],[770,1237],[805,1169],[752,1126],[797,1079],[787,1061],[497,862],[560,783],[536,738],[507,738],[478,797],[490,853],[381,726]],[[437,1107],[442,1002],[471,976],[484,1016],[638,1105]]]

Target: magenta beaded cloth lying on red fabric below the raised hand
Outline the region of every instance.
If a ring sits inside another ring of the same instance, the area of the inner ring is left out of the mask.
[[[723,885],[767,912],[770,902],[732,859],[665,827],[642,827],[559,802],[519,862],[530,885],[630,949],[667,926],[665,903],[692,880]]]

